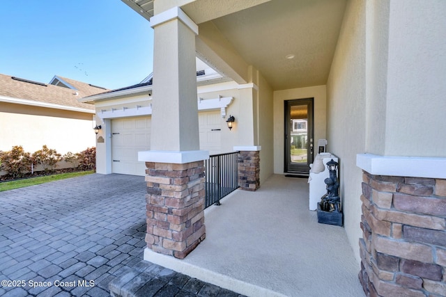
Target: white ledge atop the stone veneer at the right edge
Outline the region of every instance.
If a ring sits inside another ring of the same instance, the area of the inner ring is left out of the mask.
[[[446,158],[357,154],[356,166],[371,175],[446,178]]]

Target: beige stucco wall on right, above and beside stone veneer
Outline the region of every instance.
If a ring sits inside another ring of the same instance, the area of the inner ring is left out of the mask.
[[[446,156],[445,12],[445,1],[348,1],[327,83],[327,127],[358,262],[356,154]]]

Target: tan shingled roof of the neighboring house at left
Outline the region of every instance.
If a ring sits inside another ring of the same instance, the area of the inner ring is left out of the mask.
[[[77,99],[98,94],[107,90],[81,81],[54,77],[52,83],[39,83],[0,74],[0,102],[42,106],[94,113],[94,106]],[[63,84],[63,86],[61,86]]]

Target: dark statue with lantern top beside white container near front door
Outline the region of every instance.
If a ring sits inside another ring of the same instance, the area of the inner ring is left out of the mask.
[[[321,198],[321,210],[329,212],[341,212],[341,198],[339,197],[339,182],[337,180],[337,166],[336,161],[327,162],[330,177],[324,180],[327,184],[327,193]]]

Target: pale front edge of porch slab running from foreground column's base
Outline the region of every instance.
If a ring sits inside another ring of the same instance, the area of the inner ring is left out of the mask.
[[[234,291],[238,294],[259,297],[286,297],[286,295],[270,289],[259,287],[255,284],[250,284],[249,282],[243,282],[242,280],[211,271],[181,259],[153,252],[153,250],[149,248],[144,249],[144,260],[183,273],[191,278],[197,278],[203,282],[215,284],[218,287]]]

